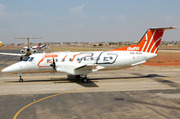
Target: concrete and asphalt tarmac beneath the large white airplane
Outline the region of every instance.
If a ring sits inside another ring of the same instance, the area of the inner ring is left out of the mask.
[[[0,55],[0,69],[19,60],[8,57]],[[0,119],[179,119],[179,72],[136,66],[89,74],[89,83],[64,73],[26,74],[20,83],[0,73]]]

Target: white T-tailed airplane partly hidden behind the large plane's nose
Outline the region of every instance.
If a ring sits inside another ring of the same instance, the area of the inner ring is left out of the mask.
[[[14,39],[27,39],[27,47],[24,47],[23,49],[20,50],[20,53],[22,54],[16,54],[16,53],[2,53],[2,55],[14,55],[14,56],[20,56],[20,61],[22,61],[24,56],[29,56],[32,55],[33,53],[37,53],[36,48],[32,48],[29,46],[29,39],[41,39],[41,37],[27,37],[27,38],[14,38]],[[39,48],[40,44],[37,46]]]

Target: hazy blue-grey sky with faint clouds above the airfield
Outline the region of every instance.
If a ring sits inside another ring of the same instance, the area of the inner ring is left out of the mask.
[[[174,26],[164,41],[180,41],[180,0],[0,0],[0,41],[139,41],[150,27]]]

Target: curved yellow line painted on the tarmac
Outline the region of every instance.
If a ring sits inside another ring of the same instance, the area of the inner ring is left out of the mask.
[[[150,79],[149,79],[150,80]],[[101,87],[106,87],[106,86],[113,86],[113,85],[118,85],[118,84],[125,84],[125,83],[134,83],[134,82],[144,82],[144,81],[148,81],[148,80],[143,80],[143,81],[133,81],[133,82],[121,82],[121,83],[113,83],[113,84],[107,84],[107,85],[102,85],[102,86],[99,86],[99,88]],[[77,92],[77,91],[81,91],[81,90],[86,90],[86,89],[91,89],[91,88],[94,88],[94,87],[88,87],[88,88],[81,88],[81,89],[76,89],[76,90],[72,90],[72,91],[67,91],[67,92],[64,92],[64,93],[58,93],[58,94],[54,94],[54,95],[51,95],[51,96],[48,96],[48,97],[44,97],[42,99],[39,99],[37,101],[34,101],[28,105],[26,105],[25,107],[21,108],[13,117],[13,119],[16,119],[17,116],[24,110],[26,109],[27,107],[37,103],[37,102],[40,102],[40,101],[43,101],[45,99],[48,99],[48,98],[52,98],[52,97],[55,97],[55,96],[59,96],[59,95],[62,95],[62,94],[67,94],[67,93],[73,93],[73,92]]]

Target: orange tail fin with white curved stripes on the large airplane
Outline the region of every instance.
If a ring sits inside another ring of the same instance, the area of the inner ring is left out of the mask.
[[[176,29],[174,27],[164,27],[164,28],[150,28],[144,34],[142,39],[137,45],[131,45],[123,48],[113,49],[111,51],[140,51],[149,52],[157,54],[164,30]]]

